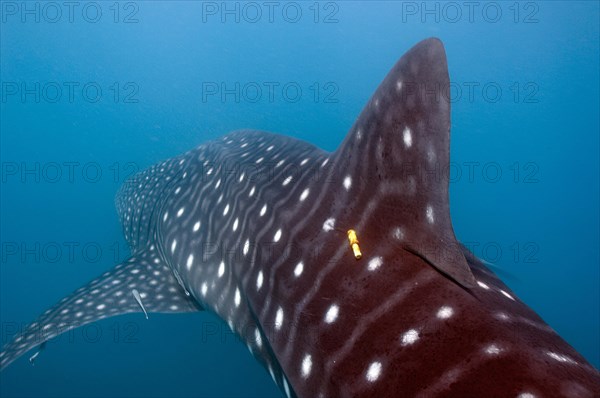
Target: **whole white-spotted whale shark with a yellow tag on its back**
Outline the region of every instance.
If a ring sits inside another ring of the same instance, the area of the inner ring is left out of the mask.
[[[598,371],[454,236],[448,85],[427,39],[333,153],[238,131],[139,173],[116,199],[131,258],[25,328],[0,369],[102,318],[209,310],[288,397],[599,397]]]

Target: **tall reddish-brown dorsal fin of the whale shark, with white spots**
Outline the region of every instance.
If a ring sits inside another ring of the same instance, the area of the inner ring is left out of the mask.
[[[449,87],[442,43],[431,38],[415,45],[363,109],[335,155],[336,167],[359,179],[360,192],[388,199],[382,222],[401,226],[400,247],[469,288],[475,280],[448,202]]]

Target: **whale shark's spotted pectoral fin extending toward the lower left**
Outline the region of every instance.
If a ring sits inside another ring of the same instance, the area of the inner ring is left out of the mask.
[[[141,253],[77,289],[24,328],[2,348],[0,370],[32,348],[90,322],[130,312],[200,310],[155,252]]]

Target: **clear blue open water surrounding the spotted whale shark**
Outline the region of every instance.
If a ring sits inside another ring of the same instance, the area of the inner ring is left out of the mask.
[[[272,21],[263,3],[229,3],[239,21],[220,2],[23,4],[0,2],[1,344],[127,256],[113,197],[132,171],[238,128],[334,150],[394,62],[437,36],[456,233],[600,366],[598,2],[275,2]],[[221,83],[233,91],[211,94]],[[107,319],[15,362],[0,395],[282,396],[214,327]]]

